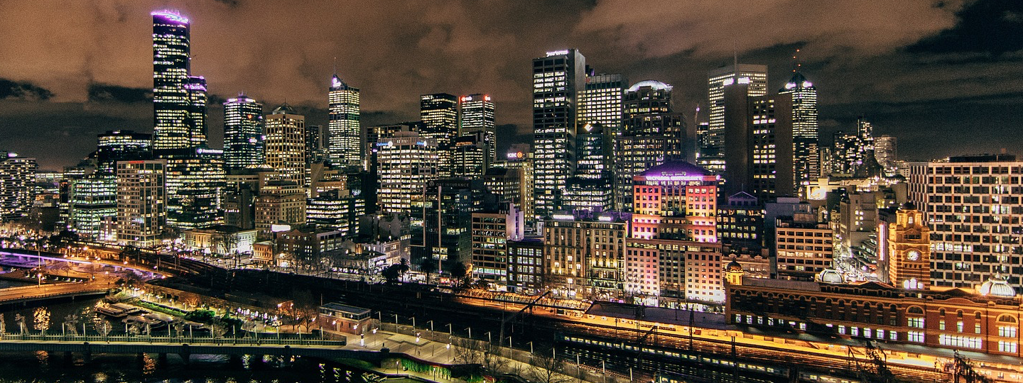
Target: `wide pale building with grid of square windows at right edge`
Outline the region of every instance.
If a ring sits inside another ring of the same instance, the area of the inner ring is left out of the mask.
[[[908,184],[930,229],[934,286],[976,288],[995,274],[1023,283],[1023,161],[994,154],[916,162]]]

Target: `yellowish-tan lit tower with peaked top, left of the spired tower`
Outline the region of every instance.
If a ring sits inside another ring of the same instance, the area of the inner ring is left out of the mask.
[[[266,164],[277,173],[276,179],[306,186],[306,116],[287,103],[266,116]]]

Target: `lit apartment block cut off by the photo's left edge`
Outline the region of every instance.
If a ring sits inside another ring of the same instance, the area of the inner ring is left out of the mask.
[[[17,220],[29,214],[37,167],[36,158],[0,151],[0,221]]]

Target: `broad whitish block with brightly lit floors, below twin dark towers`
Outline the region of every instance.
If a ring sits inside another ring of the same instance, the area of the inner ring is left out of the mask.
[[[437,180],[437,141],[415,132],[396,132],[376,142],[380,212],[409,214],[413,195]],[[413,220],[415,218],[412,218]]]

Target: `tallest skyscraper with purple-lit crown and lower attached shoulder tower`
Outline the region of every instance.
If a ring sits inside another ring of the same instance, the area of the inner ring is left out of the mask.
[[[175,10],[152,15],[153,148],[206,143],[206,80],[191,76],[188,18]]]

